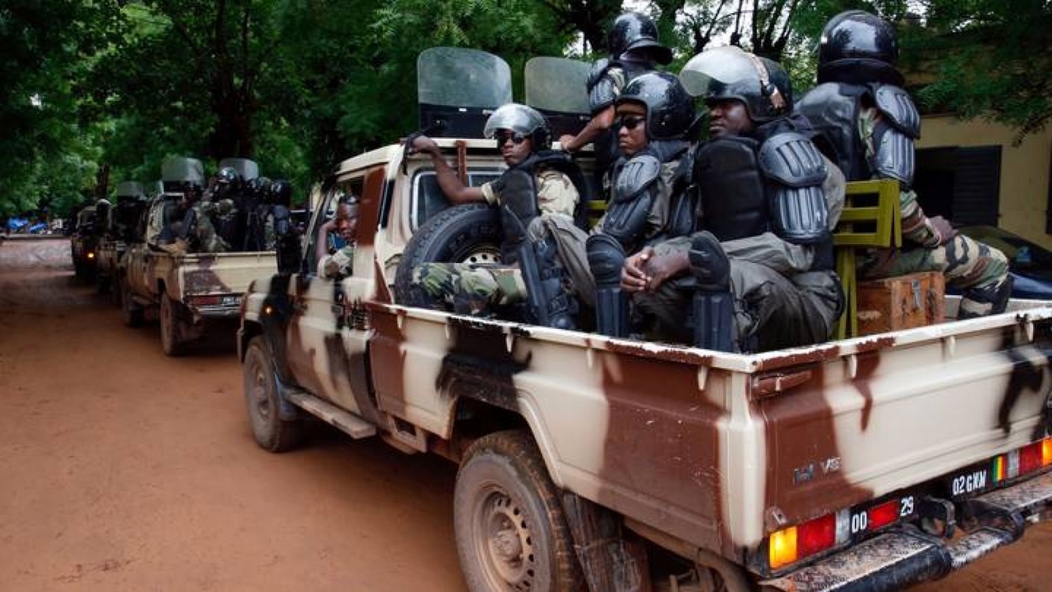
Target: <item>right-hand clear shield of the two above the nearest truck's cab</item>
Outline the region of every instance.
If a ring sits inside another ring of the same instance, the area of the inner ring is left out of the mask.
[[[576,136],[588,123],[588,73],[591,66],[568,58],[526,62],[526,104],[548,118],[552,137]]]

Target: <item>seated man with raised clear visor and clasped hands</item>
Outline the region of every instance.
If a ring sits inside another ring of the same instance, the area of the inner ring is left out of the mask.
[[[843,200],[843,177],[808,140],[806,121],[786,117],[788,75],[721,47],[692,58],[680,78],[709,107],[711,139],[693,156],[697,216],[690,234],[625,261],[632,321],[651,336],[722,351],[828,339],[843,294],[827,200]]]

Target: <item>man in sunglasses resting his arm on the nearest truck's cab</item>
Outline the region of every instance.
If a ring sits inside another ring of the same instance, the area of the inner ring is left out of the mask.
[[[532,107],[506,104],[493,111],[484,131],[497,140],[508,170],[480,187],[465,186],[430,138],[417,137],[411,147],[430,156],[450,202],[501,208],[506,265],[430,263],[413,271],[413,283],[428,303],[452,304],[460,313],[489,314],[492,305],[526,302],[534,322],[574,328],[572,292],[588,298],[593,291],[586,236],[573,222],[584,188],[580,169],[564,152],[549,149],[548,123]]]

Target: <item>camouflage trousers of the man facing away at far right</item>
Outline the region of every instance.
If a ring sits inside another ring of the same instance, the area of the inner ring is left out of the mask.
[[[990,314],[990,294],[1008,278],[1008,258],[1000,250],[964,234],[935,248],[874,249],[859,268],[866,280],[918,271],[942,271],[948,286],[964,292],[960,314]]]

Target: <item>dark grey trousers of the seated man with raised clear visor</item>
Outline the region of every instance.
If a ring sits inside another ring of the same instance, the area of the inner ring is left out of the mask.
[[[725,243],[725,247],[728,244]],[[760,249],[751,245],[751,251]],[[689,243],[670,241],[654,247],[658,256],[689,249]],[[725,248],[730,261],[734,297],[734,330],[743,350],[769,351],[821,343],[832,334],[843,308],[839,280],[832,271],[784,274],[755,259],[783,258],[776,248],[750,259]],[[776,257],[775,257],[776,256]],[[690,344],[693,326],[685,322],[692,310],[694,281],[690,275],[665,282],[653,292],[631,299],[632,326],[646,339]]]

